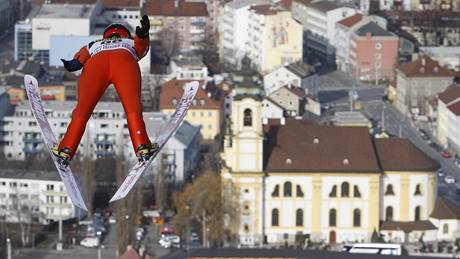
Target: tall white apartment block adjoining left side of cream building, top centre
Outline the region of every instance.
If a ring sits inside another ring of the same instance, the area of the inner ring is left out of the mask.
[[[233,0],[224,4],[220,26],[219,54],[221,61],[231,66],[239,66],[247,55],[249,42],[249,8],[268,4],[268,0]]]

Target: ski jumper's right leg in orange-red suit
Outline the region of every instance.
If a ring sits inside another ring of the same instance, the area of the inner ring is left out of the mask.
[[[130,55],[129,53],[127,53]],[[141,104],[141,73],[137,62],[130,59],[111,57],[112,82],[115,85],[128,121],[129,135],[134,151],[141,144],[150,144]]]

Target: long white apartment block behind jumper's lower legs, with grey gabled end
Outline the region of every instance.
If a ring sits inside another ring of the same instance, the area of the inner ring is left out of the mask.
[[[58,140],[62,139],[70,122],[75,102],[44,102],[44,109],[50,125]],[[161,133],[168,116],[161,113],[144,113],[144,122],[151,141]],[[47,153],[43,150],[40,129],[28,104],[16,107],[13,116],[3,119],[4,127],[1,140],[7,159],[25,160],[30,156]],[[189,177],[199,158],[200,129],[184,122],[175,135],[168,141],[157,161],[169,161],[172,171],[168,174],[177,184]],[[92,159],[122,154],[135,160],[134,150],[129,138],[128,126],[121,103],[99,102],[89,120],[85,134],[77,151],[77,157],[84,155]]]

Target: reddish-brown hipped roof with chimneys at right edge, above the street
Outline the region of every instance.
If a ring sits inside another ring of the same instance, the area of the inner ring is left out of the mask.
[[[407,77],[455,77],[458,74],[434,61],[428,56],[419,56],[417,60],[399,65],[400,70]]]

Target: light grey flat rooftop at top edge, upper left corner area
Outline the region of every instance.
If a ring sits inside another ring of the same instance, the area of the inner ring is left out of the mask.
[[[89,19],[95,6],[89,4],[44,4],[35,18]]]

